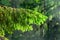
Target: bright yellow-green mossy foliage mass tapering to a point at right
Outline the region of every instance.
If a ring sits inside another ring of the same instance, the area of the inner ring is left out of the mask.
[[[12,34],[14,30],[33,30],[31,24],[41,25],[46,19],[41,13],[29,9],[0,7],[0,31],[3,34]]]

